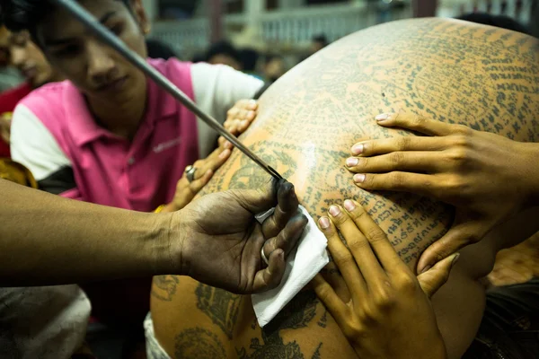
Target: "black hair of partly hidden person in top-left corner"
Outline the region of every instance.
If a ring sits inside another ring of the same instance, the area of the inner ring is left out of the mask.
[[[130,8],[130,0],[117,0]],[[0,18],[11,31],[30,31],[35,39],[35,26],[54,10],[48,0],[0,0]]]

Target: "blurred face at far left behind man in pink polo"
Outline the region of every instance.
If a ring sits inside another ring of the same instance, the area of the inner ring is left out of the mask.
[[[31,41],[28,31],[10,34],[9,54],[13,66],[21,71],[32,87],[57,80],[40,48]]]

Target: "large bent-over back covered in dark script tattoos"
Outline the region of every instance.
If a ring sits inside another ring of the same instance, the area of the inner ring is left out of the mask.
[[[344,168],[362,138],[412,136],[378,127],[375,116],[409,111],[449,123],[536,141],[539,62],[535,39],[467,22],[421,19],[359,31],[340,39],[272,85],[259,118],[242,141],[296,185],[317,219],[332,204],[355,198],[414,267],[443,235],[449,206],[402,193],[368,193]],[[269,180],[234,151],[205,193],[259,188]],[[482,318],[478,280],[492,265],[496,236],[463,250],[447,285],[433,299],[450,357],[470,345]],[[155,277],[155,335],[178,358],[355,357],[329,313],[308,289],[261,330],[249,296],[178,276]],[[413,335],[413,333],[411,333]]]

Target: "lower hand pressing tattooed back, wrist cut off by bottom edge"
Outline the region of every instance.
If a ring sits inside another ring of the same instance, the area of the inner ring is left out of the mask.
[[[357,202],[344,206],[331,206],[330,218],[319,220],[342,279],[330,285],[318,275],[314,291],[360,358],[446,359],[429,299],[446,283],[458,255],[416,277]]]

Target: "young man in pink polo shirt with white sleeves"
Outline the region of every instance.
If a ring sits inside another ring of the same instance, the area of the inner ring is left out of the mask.
[[[179,180],[183,177],[182,183],[189,185],[185,168],[209,155],[193,174],[195,181],[205,183],[230,150],[223,146],[212,153],[212,130],[68,13],[47,1],[22,3],[25,11],[8,16],[6,24],[29,30],[67,81],[42,86],[15,109],[13,160],[32,172],[41,189],[63,197],[144,212],[163,205],[165,211],[180,209],[185,202],[176,196],[182,189],[177,188]],[[140,0],[80,4],[146,57],[149,22]],[[227,66],[176,59],[148,62],[221,121],[236,101],[252,98],[263,85]],[[142,323],[149,308],[149,282],[84,289],[94,314],[102,311],[102,318]]]

